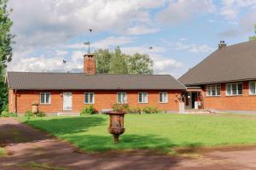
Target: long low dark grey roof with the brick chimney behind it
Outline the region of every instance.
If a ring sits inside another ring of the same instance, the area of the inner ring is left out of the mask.
[[[9,88],[27,90],[185,89],[170,75],[84,75],[84,73],[8,72]]]

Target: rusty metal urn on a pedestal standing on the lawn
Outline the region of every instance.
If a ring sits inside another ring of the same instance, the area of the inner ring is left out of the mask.
[[[113,134],[113,142],[119,142],[119,135],[125,133],[124,117],[125,111],[110,111],[108,132]]]

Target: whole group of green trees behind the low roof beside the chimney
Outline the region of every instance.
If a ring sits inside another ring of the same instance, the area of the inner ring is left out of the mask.
[[[119,47],[114,52],[99,49],[96,56],[96,72],[105,74],[153,74],[154,62],[148,54],[123,54]]]

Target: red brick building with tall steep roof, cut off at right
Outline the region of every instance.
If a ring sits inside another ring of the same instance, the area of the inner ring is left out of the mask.
[[[256,111],[256,41],[218,49],[178,79],[186,109]]]

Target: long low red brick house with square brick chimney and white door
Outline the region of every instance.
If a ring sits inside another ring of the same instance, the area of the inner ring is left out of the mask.
[[[84,55],[84,73],[8,72],[9,111],[24,113],[39,104],[48,114],[79,113],[84,106],[97,111],[116,103],[162,111],[178,111],[185,91],[182,83],[170,75],[96,74],[93,55]]]

